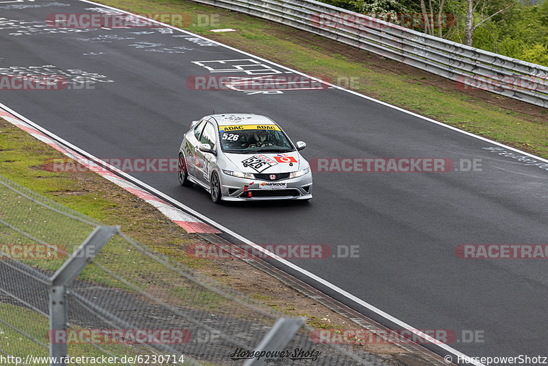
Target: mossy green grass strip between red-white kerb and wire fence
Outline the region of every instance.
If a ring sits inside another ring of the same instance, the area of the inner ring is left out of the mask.
[[[185,235],[182,228],[142,199],[91,171],[47,171],[48,160],[66,157],[1,119],[0,151],[0,175],[101,223],[121,225],[125,234],[142,243],[151,243],[158,253],[179,258],[188,267],[211,264],[209,260],[187,256],[182,248],[201,241]],[[29,225],[39,227],[42,223]],[[158,236],[152,228],[164,230],[166,235]]]

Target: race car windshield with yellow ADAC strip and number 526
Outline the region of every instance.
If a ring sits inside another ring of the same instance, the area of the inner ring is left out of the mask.
[[[295,150],[277,125],[219,126],[219,138],[221,149],[229,153],[276,153]]]

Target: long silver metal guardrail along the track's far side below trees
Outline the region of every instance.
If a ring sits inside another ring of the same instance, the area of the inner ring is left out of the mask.
[[[548,107],[548,67],[314,0],[192,0],[275,21],[482,89]]]

